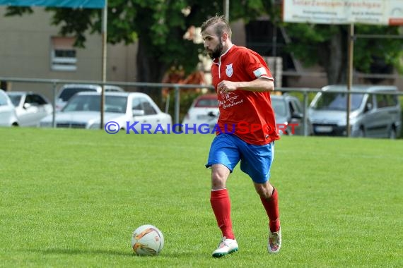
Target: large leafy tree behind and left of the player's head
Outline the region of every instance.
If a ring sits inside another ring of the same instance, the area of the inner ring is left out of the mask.
[[[108,1],[107,42],[115,44],[139,42],[137,80],[160,83],[171,66],[182,66],[186,73],[194,71],[203,53],[201,44],[183,38],[192,25],[223,11],[223,1],[201,4],[197,0],[110,0]],[[230,5],[230,20],[255,18],[262,14],[264,0],[236,1]],[[6,16],[32,13],[31,8],[8,7]],[[76,46],[85,47],[88,30],[100,32],[101,11],[79,8],[46,8],[53,13],[52,24],[62,35],[74,35]],[[158,92],[159,90],[153,91]],[[160,99],[160,96],[156,99]]]

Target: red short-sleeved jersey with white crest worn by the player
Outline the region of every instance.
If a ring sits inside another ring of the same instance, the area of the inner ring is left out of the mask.
[[[218,133],[233,133],[252,145],[279,140],[269,92],[235,90],[223,94],[217,85],[222,80],[247,82],[257,78],[273,80],[262,56],[246,47],[233,45],[214,59],[211,66],[213,85],[218,95],[220,117]]]

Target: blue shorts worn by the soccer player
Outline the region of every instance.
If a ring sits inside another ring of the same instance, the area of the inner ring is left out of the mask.
[[[230,172],[240,162],[240,170],[255,183],[265,183],[270,178],[274,159],[274,142],[267,145],[250,145],[235,135],[221,133],[211,143],[206,167],[223,164]]]

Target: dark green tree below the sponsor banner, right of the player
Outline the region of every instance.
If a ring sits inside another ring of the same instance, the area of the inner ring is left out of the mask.
[[[349,25],[284,25],[293,40],[289,51],[307,66],[319,64],[327,73],[329,84],[346,83]],[[398,35],[398,27],[355,25],[355,34]],[[354,68],[362,73],[402,73],[403,52],[399,39],[355,39]],[[375,81],[373,81],[375,82]]]

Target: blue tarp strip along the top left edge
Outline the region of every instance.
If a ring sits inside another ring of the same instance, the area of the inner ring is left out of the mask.
[[[104,8],[105,0],[0,0],[0,6],[52,6],[56,8]]]

